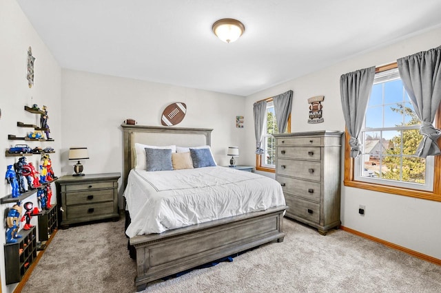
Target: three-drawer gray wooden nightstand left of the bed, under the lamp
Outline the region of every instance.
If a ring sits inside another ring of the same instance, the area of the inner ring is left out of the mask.
[[[121,173],[65,175],[57,185],[59,226],[99,219],[119,219],[118,179]]]

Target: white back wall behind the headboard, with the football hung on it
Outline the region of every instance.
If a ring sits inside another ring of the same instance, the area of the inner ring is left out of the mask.
[[[62,72],[63,173],[73,171],[74,163],[68,162],[70,146],[88,147],[90,160],[82,162],[84,173],[122,173],[120,125],[126,118],[134,118],[141,125],[161,126],[163,109],[172,102],[187,105],[185,118],[176,127],[214,129],[212,149],[219,165],[229,164],[228,146],[242,149],[244,133],[254,131],[252,116],[245,116],[244,128],[236,128],[236,116],[244,115],[242,96],[68,69]],[[121,179],[119,185],[122,199]]]

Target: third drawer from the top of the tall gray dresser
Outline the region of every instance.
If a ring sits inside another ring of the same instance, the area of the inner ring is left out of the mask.
[[[320,181],[320,162],[277,159],[277,174]]]

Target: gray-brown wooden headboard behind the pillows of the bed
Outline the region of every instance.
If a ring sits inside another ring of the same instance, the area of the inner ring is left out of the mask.
[[[124,171],[123,186],[127,183],[127,176],[134,168],[134,144],[149,144],[152,146],[201,146],[211,145],[213,129],[158,127],[145,125],[121,124],[123,128]]]

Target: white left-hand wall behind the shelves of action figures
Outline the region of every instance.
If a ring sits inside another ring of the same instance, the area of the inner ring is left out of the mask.
[[[59,149],[61,146],[61,68],[52,54],[34,31],[32,25],[25,17],[21,8],[14,0],[0,0],[0,166],[6,172],[6,166],[14,164],[19,157],[6,157],[4,152],[14,144],[28,144],[35,146],[52,146]],[[26,80],[27,52],[32,47],[35,59],[34,86],[28,87]],[[8,134],[25,136],[33,129],[17,127],[17,121],[28,124],[39,124],[39,115],[24,111],[24,106],[37,104],[39,107],[48,107],[48,125],[54,142],[24,142],[20,140],[8,140]],[[60,173],[59,153],[50,155],[55,175]],[[28,162],[34,162],[38,166],[40,155],[27,157]],[[4,173],[3,173],[4,174]],[[55,193],[55,188],[53,188]],[[0,197],[11,193],[9,184],[0,180]],[[55,196],[52,202],[55,202]],[[33,202],[37,206],[37,196],[32,195],[24,202]],[[23,204],[24,204],[23,202]],[[12,292],[15,284],[6,285],[5,262],[3,244],[6,242],[5,226],[6,215],[12,204],[2,204],[0,209],[0,276],[1,291]],[[37,224],[37,217],[32,217],[31,224]]]

